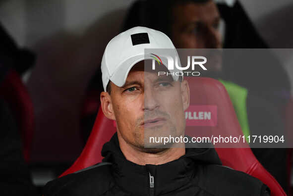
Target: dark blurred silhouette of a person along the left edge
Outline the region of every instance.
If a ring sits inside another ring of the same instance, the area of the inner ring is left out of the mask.
[[[34,62],[34,55],[18,49],[0,26],[0,190],[1,196],[35,196],[30,171],[23,156],[20,125],[16,122],[11,103],[3,98],[3,83],[9,71],[24,73]]]

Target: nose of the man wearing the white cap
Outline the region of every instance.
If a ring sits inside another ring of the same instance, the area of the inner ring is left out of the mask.
[[[159,107],[155,91],[151,87],[144,88],[143,110],[154,110]]]

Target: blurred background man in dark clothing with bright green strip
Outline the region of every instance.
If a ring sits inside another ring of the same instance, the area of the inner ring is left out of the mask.
[[[267,48],[238,2],[234,4],[231,13],[227,10],[228,8],[224,9],[223,5],[220,7],[222,13],[225,13],[225,21],[229,20],[226,24],[225,47]],[[160,13],[160,17],[153,13]],[[219,29],[220,17],[218,7],[213,0],[137,0],[129,9],[123,29],[145,26],[162,31],[171,38],[177,49],[220,50],[223,47]],[[239,22],[244,26],[241,29]],[[230,25],[237,28],[233,29]],[[212,54],[212,56],[216,55]],[[257,65],[247,62],[250,60],[249,58],[244,59],[243,56],[238,58],[241,60],[232,60],[232,63],[227,63],[225,59],[222,63],[222,59],[216,59],[215,61],[221,62],[208,64],[209,71],[202,72],[201,76],[220,79],[226,87],[245,136],[284,134],[285,127],[280,114],[279,102],[284,104],[286,101],[282,101],[283,99],[279,97],[276,98],[275,94],[279,94],[279,90],[282,91],[283,87],[290,89],[287,85],[288,76],[283,73],[282,67],[276,73],[276,66],[279,62],[273,55],[265,59],[264,62],[268,63]],[[237,57],[234,56],[234,59]],[[273,64],[275,67],[268,66]],[[262,67],[262,65],[266,67]],[[252,69],[249,66],[253,68],[253,71],[249,72],[248,78],[243,73],[245,69]],[[265,78],[267,76],[268,78]],[[272,80],[272,78],[274,79]],[[277,91],[272,93],[272,90]],[[287,191],[286,149],[252,148],[252,151],[260,163]],[[278,158],[272,160],[273,156]]]

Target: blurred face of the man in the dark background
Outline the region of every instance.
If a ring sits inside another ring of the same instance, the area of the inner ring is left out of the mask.
[[[172,41],[177,49],[220,49],[220,14],[213,0],[206,3],[176,4],[173,7]],[[206,52],[206,51],[202,51]],[[209,72],[222,71],[218,50],[200,55],[208,57]]]

